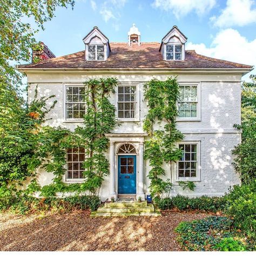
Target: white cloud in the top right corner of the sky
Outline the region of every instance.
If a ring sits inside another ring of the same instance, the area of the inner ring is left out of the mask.
[[[226,28],[233,25],[244,26],[256,22],[255,1],[252,0],[227,0],[227,6],[221,10],[219,17],[211,17],[215,26]]]

